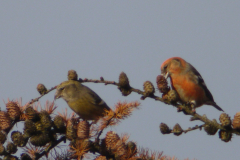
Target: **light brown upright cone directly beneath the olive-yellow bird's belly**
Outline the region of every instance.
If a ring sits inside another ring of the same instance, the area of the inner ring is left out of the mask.
[[[81,121],[78,123],[77,136],[78,138],[89,138],[90,125],[87,121]]]

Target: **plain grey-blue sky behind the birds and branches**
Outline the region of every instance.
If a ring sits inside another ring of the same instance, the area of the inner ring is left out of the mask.
[[[179,56],[201,73],[217,104],[232,118],[240,111],[240,1],[1,1],[0,99],[36,98],[36,86],[53,87],[74,69],[81,78],[118,81],[124,71],[131,86],[146,80],[156,86],[160,65]],[[183,129],[201,122],[176,108],[115,86],[86,84],[109,106],[140,101],[141,109],[111,130],[179,159],[239,159],[240,138],[225,143],[204,130],[179,137],[162,135],[159,124]],[[160,96],[157,92],[156,95]],[[40,100],[53,100],[54,93]],[[68,107],[63,100],[56,105]],[[2,110],[4,102],[0,102]],[[70,111],[70,110],[69,110]],[[219,119],[221,112],[202,106],[197,113]],[[10,139],[9,139],[10,140]]]

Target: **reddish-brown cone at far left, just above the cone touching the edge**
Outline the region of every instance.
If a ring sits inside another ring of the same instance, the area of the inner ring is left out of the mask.
[[[8,115],[12,120],[17,120],[20,118],[21,110],[18,103],[9,101],[6,104],[6,108],[7,108]]]

